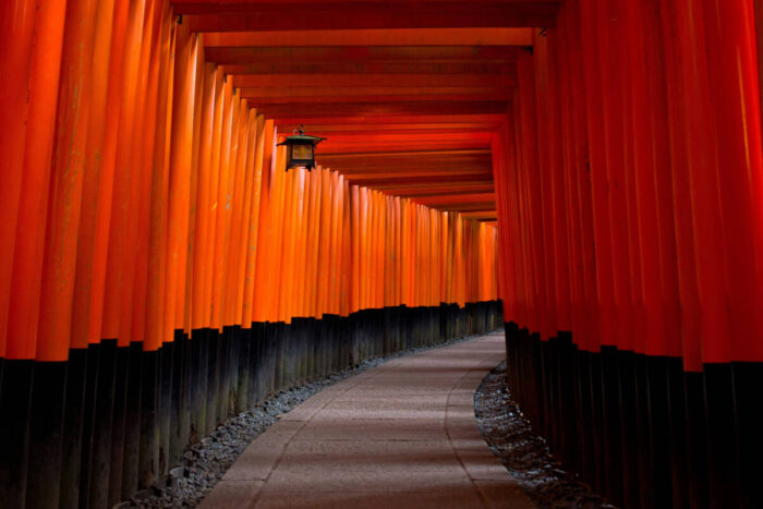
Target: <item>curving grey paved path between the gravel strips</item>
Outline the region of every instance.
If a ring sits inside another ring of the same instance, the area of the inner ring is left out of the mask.
[[[474,419],[502,357],[504,336],[483,336],[324,389],[257,437],[202,507],[534,507]]]

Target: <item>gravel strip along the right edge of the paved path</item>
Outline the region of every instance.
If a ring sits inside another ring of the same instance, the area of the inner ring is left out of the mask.
[[[615,508],[591,486],[554,460],[546,440],[534,434],[506,380],[506,362],[482,380],[474,393],[480,433],[524,493],[540,508]]]

